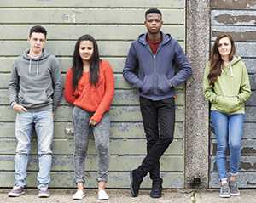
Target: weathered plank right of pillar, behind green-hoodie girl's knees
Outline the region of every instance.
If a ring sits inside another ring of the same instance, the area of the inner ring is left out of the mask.
[[[217,143],[216,139],[212,139],[211,155],[216,155]],[[229,153],[227,153],[229,155]],[[252,138],[242,139],[241,155],[256,155],[256,140]]]

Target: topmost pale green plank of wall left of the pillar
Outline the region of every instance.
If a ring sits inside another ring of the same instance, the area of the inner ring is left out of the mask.
[[[158,1],[148,1],[148,0],[47,0],[47,1],[37,1],[37,0],[8,0],[3,1],[0,4],[0,8],[12,8],[12,7],[20,7],[20,8],[184,8],[185,1],[181,0],[172,0],[166,3],[166,0],[158,0]]]

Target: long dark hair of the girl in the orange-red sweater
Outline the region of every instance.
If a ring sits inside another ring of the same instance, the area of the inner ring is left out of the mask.
[[[82,41],[90,41],[93,44],[93,54],[90,59],[90,84],[96,85],[99,79],[99,66],[100,66],[100,56],[98,45],[94,37],[90,35],[83,35],[79,37],[78,41],[75,44],[74,51],[73,51],[73,88],[76,88],[79,83],[79,79],[83,75],[83,60],[79,54],[79,47],[80,42]]]

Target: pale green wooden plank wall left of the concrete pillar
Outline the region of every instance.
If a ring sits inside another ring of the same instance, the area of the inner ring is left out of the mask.
[[[137,91],[125,82],[122,69],[131,41],[145,31],[144,12],[160,8],[163,31],[176,37],[184,47],[184,0],[9,0],[0,3],[0,187],[11,187],[14,181],[15,113],[9,108],[7,84],[13,60],[28,47],[26,38],[32,25],[44,25],[48,31],[47,49],[61,61],[63,78],[71,65],[76,39],[85,33],[96,37],[102,59],[113,65],[115,97],[110,110],[110,172],[108,186],[128,188],[129,171],[143,160],[146,141],[143,133]],[[184,185],[184,89],[177,88],[175,139],[162,157],[164,187]],[[55,115],[54,160],[50,187],[74,187],[72,109],[62,99]],[[38,172],[36,136],[28,166],[28,186],[35,187]],[[90,138],[86,162],[88,187],[96,187],[96,152]],[[148,179],[148,178],[146,178]],[[143,187],[150,187],[144,181]]]

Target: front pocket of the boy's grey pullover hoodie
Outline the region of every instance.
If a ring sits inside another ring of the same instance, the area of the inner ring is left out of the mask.
[[[44,104],[48,102],[45,90],[27,90],[24,94],[22,104]]]

